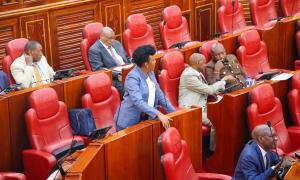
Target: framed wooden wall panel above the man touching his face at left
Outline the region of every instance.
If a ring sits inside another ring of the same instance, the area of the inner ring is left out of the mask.
[[[53,66],[51,57],[51,46],[49,43],[49,16],[48,13],[33,14],[20,17],[21,37],[35,40],[41,43],[43,54],[48,63]],[[39,33],[36,30],[39,30]]]

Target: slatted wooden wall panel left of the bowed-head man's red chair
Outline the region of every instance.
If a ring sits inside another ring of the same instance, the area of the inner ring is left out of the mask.
[[[96,21],[98,13],[95,3],[50,13],[54,69],[85,68],[80,50],[82,29],[86,24]]]

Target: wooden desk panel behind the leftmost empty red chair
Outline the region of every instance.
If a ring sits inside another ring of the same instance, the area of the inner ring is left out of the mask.
[[[60,84],[49,84],[42,87],[53,88],[58,95],[59,100],[63,100],[63,86]],[[28,88],[5,95],[8,98],[9,122],[12,169],[13,171],[22,170],[22,150],[30,148],[25,124],[25,112],[29,109],[28,97],[34,90],[41,87]]]

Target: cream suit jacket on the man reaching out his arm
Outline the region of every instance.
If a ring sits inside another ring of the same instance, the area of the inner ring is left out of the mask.
[[[202,121],[204,124],[207,124],[207,96],[223,91],[225,84],[225,81],[218,81],[208,85],[200,72],[192,67],[187,67],[180,76],[178,104],[180,107],[201,106]]]

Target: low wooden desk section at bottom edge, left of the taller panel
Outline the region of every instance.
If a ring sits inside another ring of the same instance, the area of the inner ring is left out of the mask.
[[[104,161],[104,146],[99,143],[91,143],[78,157],[65,179],[104,180]]]

